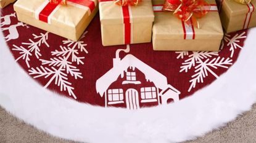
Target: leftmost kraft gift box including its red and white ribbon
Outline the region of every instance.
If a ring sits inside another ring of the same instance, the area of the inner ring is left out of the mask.
[[[98,9],[97,0],[67,0],[65,6],[49,0],[18,0],[14,10],[24,23],[78,41]]]

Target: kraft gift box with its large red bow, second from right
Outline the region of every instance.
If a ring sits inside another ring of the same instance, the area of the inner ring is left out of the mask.
[[[197,3],[185,3],[186,7],[183,7],[180,3],[172,6],[168,1],[164,4],[162,1],[154,1],[155,21],[152,37],[154,50],[219,50],[223,29],[217,4],[215,1],[198,1],[198,3],[199,6]]]

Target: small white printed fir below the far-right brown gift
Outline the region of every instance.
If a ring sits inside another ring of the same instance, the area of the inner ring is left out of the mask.
[[[229,34],[225,34],[224,36],[224,39],[223,39],[223,42],[221,44],[221,49],[223,49],[223,47],[225,46],[225,42],[227,42],[228,46],[229,46],[229,51],[231,52],[230,54],[230,57],[232,58],[233,55],[234,55],[234,51],[237,49],[237,48],[241,48],[242,49],[242,46],[239,45],[239,42],[242,40],[242,39],[246,39],[246,32],[243,32],[241,34],[236,34],[234,37],[231,38],[231,35]]]

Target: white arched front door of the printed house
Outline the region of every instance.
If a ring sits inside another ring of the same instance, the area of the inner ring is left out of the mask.
[[[137,90],[128,89],[125,93],[126,107],[130,110],[139,109],[139,94]]]

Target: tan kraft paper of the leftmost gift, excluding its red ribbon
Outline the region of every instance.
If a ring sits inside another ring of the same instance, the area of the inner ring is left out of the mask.
[[[76,6],[60,6],[52,15],[51,24],[36,20],[35,11],[47,0],[19,0],[14,4],[18,20],[28,23],[40,29],[44,29],[59,36],[78,41],[94,15],[97,13],[97,5],[93,12],[89,9],[81,9]],[[95,4],[96,0],[95,0]]]

